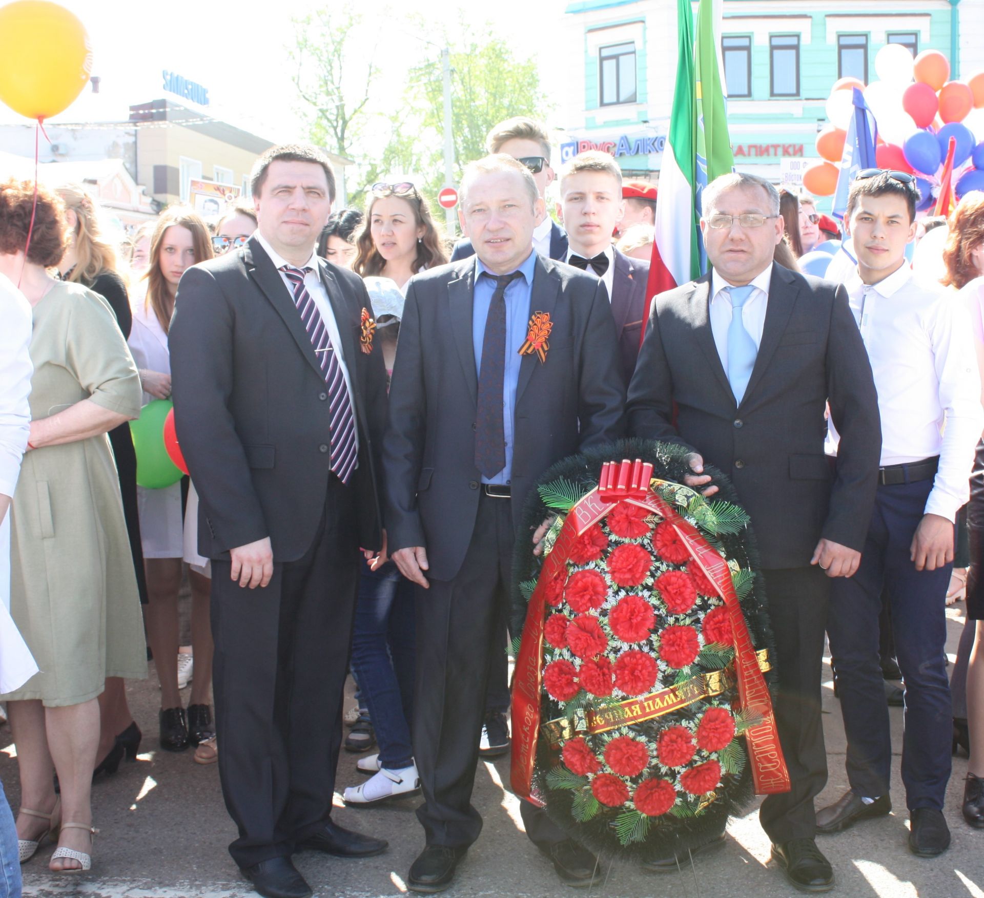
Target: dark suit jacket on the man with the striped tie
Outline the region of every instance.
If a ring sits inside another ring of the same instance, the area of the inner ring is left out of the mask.
[[[359,349],[362,278],[321,261],[354,394],[360,544],[382,544],[376,486],[386,416],[383,353]],[[312,545],[328,492],[325,378],[300,315],[254,238],[181,275],[168,343],[178,441],[201,499],[199,551],[271,538],[275,562]]]

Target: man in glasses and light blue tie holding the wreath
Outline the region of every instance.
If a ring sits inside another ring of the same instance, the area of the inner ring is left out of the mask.
[[[860,562],[882,442],[878,397],[844,288],[772,263],[782,239],[775,188],[722,175],[702,201],[713,271],[653,299],[629,388],[630,432],[692,449],[692,486],[707,483],[705,460],[725,471],[751,516],[792,781],[789,793],[763,802],[760,819],[792,884],[825,891],[833,871],[814,840],[814,799],[827,781],[820,684],[829,578]],[[824,454],[828,400],[841,435],[835,466]]]

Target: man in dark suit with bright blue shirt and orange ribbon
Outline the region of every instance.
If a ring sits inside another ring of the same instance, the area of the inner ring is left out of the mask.
[[[622,434],[608,298],[595,278],[533,252],[542,210],[511,156],[470,163],[460,214],[476,258],[415,276],[403,309],[384,469],[393,559],[420,586],[413,745],[427,844],[414,891],[451,885],[481,831],[470,805],[478,734],[526,494],[554,462]],[[523,821],[562,879],[594,881],[594,856],[542,810],[524,802]]]

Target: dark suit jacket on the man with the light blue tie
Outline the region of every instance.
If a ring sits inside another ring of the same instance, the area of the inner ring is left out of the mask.
[[[809,565],[821,537],[860,551],[882,431],[844,288],[773,267],[762,344],[736,407],[710,329],[709,285],[708,273],[653,299],[629,388],[630,433],[676,440],[728,474],[764,568]],[[824,454],[828,399],[840,433],[835,466]]]

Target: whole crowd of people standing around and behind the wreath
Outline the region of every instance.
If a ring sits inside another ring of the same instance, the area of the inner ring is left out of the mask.
[[[487,150],[454,243],[408,180],[333,210],[332,166],[302,145],[257,160],[249,204],[164,210],[125,247],[83,187],[0,184],[0,700],[21,783],[16,821],[0,792],[5,894],[15,838],[20,864],[51,840],[51,870],[91,868],[92,783],[137,756],[124,681],[149,657],[154,746],[217,763],[261,895],[311,893],[295,852],[387,850],[332,819],[342,745],[368,775],[346,805],[422,794],[406,884],[448,888],[482,827],[477,761],[511,748],[514,550],[547,526],[523,531],[524,500],[625,436],[684,446],[705,495],[705,465],[723,471],[751,517],[792,781],[760,819],[790,882],[830,889],[817,834],[892,810],[892,702],[910,850],[949,847],[957,746],[962,816],[984,827],[984,195],[917,220],[914,179],[870,169],[836,222],[725,175],[702,196],[707,275],[649,297],[655,186],[599,151],[555,171],[527,118]],[[931,226],[926,277],[911,258]],[[534,313],[538,359],[520,348]],[[152,489],[128,422],[156,399],[191,476]],[[850,788],[817,809],[825,638]],[[591,850],[521,809],[561,881],[597,881]]]

